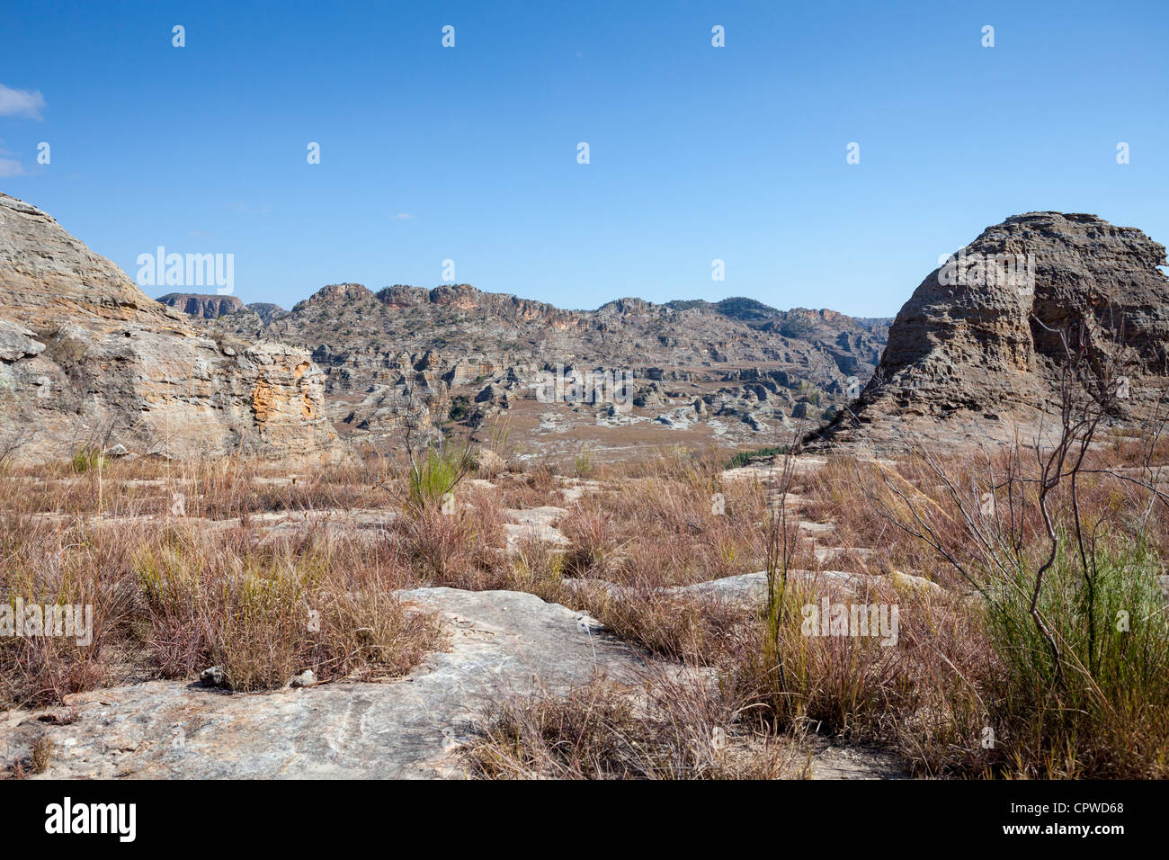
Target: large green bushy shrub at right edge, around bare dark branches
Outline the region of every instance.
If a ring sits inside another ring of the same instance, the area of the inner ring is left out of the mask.
[[[1043,777],[1164,776],[1169,766],[1169,621],[1161,563],[1143,539],[1090,551],[1085,577],[1067,535],[1037,604],[1059,646],[1030,614],[1033,571],[987,608],[1002,666],[988,673],[991,725],[1012,766]],[[1016,585],[1018,587],[1016,587]]]

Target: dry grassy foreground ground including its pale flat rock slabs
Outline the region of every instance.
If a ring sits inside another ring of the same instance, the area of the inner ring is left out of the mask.
[[[1043,642],[981,603],[1015,580],[996,578],[1003,555],[988,557],[980,535],[1015,548],[1021,577],[1028,545],[1042,550],[1028,486],[1002,493],[1003,456],[726,468],[666,449],[577,459],[568,474],[503,450],[430,452],[417,472],[404,460],[295,475],[231,460],[9,468],[9,606],[89,606],[92,626],[84,644],[27,625],[0,639],[0,766],[65,778],[1163,776],[1169,730],[1163,709],[1148,713],[1167,703],[1163,674],[1129,683],[1123,708],[1095,702],[1104,725],[1045,717],[1059,702],[1035,689],[1031,713],[1012,660]],[[1115,538],[1093,543],[1093,564],[1139,549],[1120,580],[1098,579],[1121,596],[1108,612],[1163,607],[1160,468],[1122,438],[1094,456],[1122,480],[1082,479],[1080,516]],[[1053,575],[1050,587],[1073,585]],[[857,629],[857,607],[871,627]],[[1163,613],[1146,621],[1134,635],[1163,666]],[[1077,631],[1063,635],[1080,647]],[[1107,699],[1112,646],[1097,635],[1085,662]],[[1080,695],[1061,683],[1059,701]]]

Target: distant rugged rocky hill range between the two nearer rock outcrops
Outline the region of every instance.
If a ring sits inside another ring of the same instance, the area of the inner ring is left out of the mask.
[[[880,321],[779,311],[746,298],[664,305],[620,298],[562,310],[470,284],[376,293],[331,284],[268,322],[244,310],[210,325],[263,331],[310,350],[327,376],[333,419],[357,435],[392,435],[407,414],[477,427],[493,414],[517,414],[526,401],[539,413],[537,431],[701,422],[736,443],[760,433],[790,435],[831,414],[872,374],[886,333]],[[541,379],[558,367],[568,377],[628,379],[631,408],[590,398],[566,420],[562,411],[535,406]]]

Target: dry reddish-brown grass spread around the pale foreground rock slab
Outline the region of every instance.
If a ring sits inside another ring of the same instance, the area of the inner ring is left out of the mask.
[[[1158,445],[1157,456],[1169,454]],[[1140,483],[1112,474],[1148,479],[1147,453],[1120,435],[1098,446],[1079,483],[1081,517],[1092,534],[1143,539],[1164,558],[1169,505],[1149,507]],[[396,590],[509,589],[588,612],[671,669],[636,687],[597,682],[502,703],[469,751],[482,776],[798,776],[790,747],[805,732],[879,743],[918,775],[1165,775],[1169,721],[1143,716],[1144,700],[1108,702],[1111,722],[1091,735],[1053,734],[1050,714],[1028,716],[1044,700],[1004,680],[1015,677],[1012,661],[976,587],[895,522],[916,512],[959,562],[982,558],[962,505],[920,457],[831,455],[793,479],[787,566],[801,573],[770,608],[677,591],[766,566],[775,476],[731,481],[720,466],[676,449],[596,465],[568,501],[577,479],[528,465],[491,487],[461,484],[447,512],[404,505],[403,463],[387,459],[295,481],[231,460],[9,468],[0,474],[0,589],[9,601],[92,605],[94,641],[0,640],[0,700],[47,704],[132,679],[193,677],[210,665],[236,689],[279,686],[305,668],[323,681],[400,674],[443,637]],[[946,460],[970,500],[1001,486],[1010,467],[1001,452]],[[171,514],[175,493],[181,516]],[[1023,564],[1039,555],[1033,501],[1024,484],[997,502]],[[1057,490],[1057,505],[1068,501]],[[566,510],[555,525],[567,546],[531,538],[509,551],[504,510],[541,505]],[[358,510],[373,511],[367,528],[346,524]],[[815,539],[846,551],[817,563],[797,520],[833,524]],[[825,569],[857,577],[845,587]],[[894,571],[941,590],[899,590]],[[897,645],[804,635],[802,606],[825,597],[897,604]],[[987,728],[996,747],[984,745]],[[715,736],[726,745],[708,742]],[[1074,749],[1056,749],[1057,736]]]

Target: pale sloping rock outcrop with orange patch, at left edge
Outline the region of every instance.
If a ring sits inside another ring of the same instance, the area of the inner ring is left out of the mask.
[[[0,434],[32,460],[115,445],[173,457],[337,449],[309,353],[209,337],[4,194]]]

